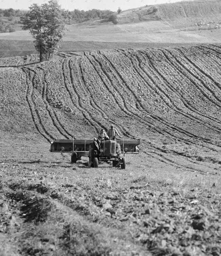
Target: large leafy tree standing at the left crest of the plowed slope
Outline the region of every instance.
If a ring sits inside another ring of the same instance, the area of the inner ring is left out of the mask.
[[[62,42],[65,24],[69,21],[67,11],[56,0],[45,4],[32,4],[30,11],[21,17],[23,30],[30,30],[40,61],[48,60],[58,51]]]

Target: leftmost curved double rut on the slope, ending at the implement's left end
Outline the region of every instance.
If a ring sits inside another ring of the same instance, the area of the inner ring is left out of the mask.
[[[35,124],[36,130],[37,130],[49,143],[51,143],[51,141],[47,138],[47,136],[46,136],[44,133],[42,133],[42,132],[40,131],[40,129],[39,129],[39,127],[38,127],[38,124],[37,124],[37,122],[36,122],[36,120],[35,120],[34,113],[37,115],[37,119],[38,119],[39,125],[42,126],[42,125],[41,125],[40,117],[38,116],[37,112],[36,112],[35,110],[33,110],[33,109],[35,109],[35,104],[34,104],[33,98],[32,98],[33,87],[32,87],[32,89],[29,88],[28,81],[27,81],[27,80],[28,80],[27,73],[24,71],[24,68],[21,68],[21,70],[25,73],[25,76],[26,76],[25,82],[26,82],[26,85],[27,85],[27,90],[26,90],[26,96],[25,96],[25,97],[26,97],[26,100],[27,100],[27,103],[28,103],[29,110],[30,110],[30,112],[31,112],[32,121],[33,121],[33,123]],[[29,92],[29,91],[30,91],[30,92]],[[29,94],[29,95],[28,95],[28,94]],[[29,98],[30,98],[30,99],[29,99]],[[32,102],[32,104],[31,104],[31,102]],[[34,107],[32,107],[32,105],[34,105]],[[44,129],[43,129],[43,130],[44,130]],[[51,137],[50,137],[50,138],[51,138]]]

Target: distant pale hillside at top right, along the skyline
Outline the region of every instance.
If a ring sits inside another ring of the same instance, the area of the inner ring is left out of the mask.
[[[133,23],[150,20],[174,21],[184,17],[191,20],[214,19],[219,21],[221,15],[221,1],[195,0],[175,3],[145,5],[122,11],[117,15],[119,23]]]

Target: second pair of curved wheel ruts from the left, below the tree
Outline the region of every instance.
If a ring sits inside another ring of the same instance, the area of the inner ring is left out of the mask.
[[[46,110],[49,114],[49,116],[51,117],[51,120],[53,122],[53,125],[57,128],[58,132],[63,135],[66,139],[69,139],[69,137],[63,133],[61,131],[61,129],[63,129],[69,136],[72,136],[72,134],[68,133],[68,131],[65,130],[65,128],[62,126],[62,124],[60,123],[60,121],[58,120],[58,117],[56,115],[56,113],[53,111],[53,109],[51,108],[51,105],[49,103],[49,100],[48,100],[48,97],[47,97],[47,81],[46,81],[46,74],[45,74],[45,71],[43,68],[41,67],[37,67],[38,69],[42,70],[43,72],[43,79],[42,79],[42,84],[43,84],[43,88],[42,88],[42,99],[44,101],[44,104],[45,104],[45,107],[46,107]],[[55,123],[55,121],[61,126],[61,129],[58,127],[58,125]]]

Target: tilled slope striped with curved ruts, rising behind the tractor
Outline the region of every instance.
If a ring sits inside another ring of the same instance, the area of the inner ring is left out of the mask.
[[[3,131],[35,131],[49,142],[94,136],[114,123],[124,136],[141,138],[142,149],[154,149],[159,159],[172,161],[162,153],[183,156],[194,168],[193,160],[204,154],[208,162],[220,161],[212,160],[221,143],[218,46],[59,56],[28,66],[22,58],[1,59],[0,66],[20,66],[0,69]],[[207,148],[212,151],[205,153]]]

